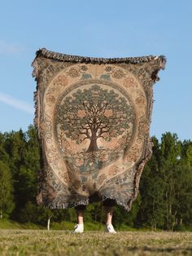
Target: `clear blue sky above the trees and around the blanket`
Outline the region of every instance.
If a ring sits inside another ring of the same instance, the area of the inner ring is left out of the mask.
[[[33,123],[38,48],[72,55],[166,55],[154,86],[151,135],[192,139],[192,1],[2,1],[0,131]]]

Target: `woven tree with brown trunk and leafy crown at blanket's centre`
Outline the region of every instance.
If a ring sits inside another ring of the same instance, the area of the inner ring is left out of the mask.
[[[114,90],[97,84],[78,89],[61,101],[57,125],[67,138],[77,144],[89,139],[86,152],[99,151],[98,138],[110,141],[122,135],[133,123],[133,107]]]

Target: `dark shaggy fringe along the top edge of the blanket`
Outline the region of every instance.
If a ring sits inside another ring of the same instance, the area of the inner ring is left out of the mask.
[[[127,57],[127,58],[94,58],[87,56],[78,56],[78,55],[66,55],[55,51],[48,51],[46,48],[41,48],[36,52],[36,58],[38,56],[46,57],[52,60],[74,62],[74,63],[90,63],[90,64],[141,64],[146,63],[151,60],[159,60],[159,68],[164,68],[166,64],[166,58],[164,55],[154,56],[141,56],[141,57]],[[36,59],[35,59],[36,60]],[[35,60],[33,61],[33,67],[35,66]],[[34,69],[34,76],[37,76],[36,68]]]

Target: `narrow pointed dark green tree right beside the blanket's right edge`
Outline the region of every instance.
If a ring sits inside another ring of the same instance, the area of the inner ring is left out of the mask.
[[[137,225],[156,230],[164,224],[164,179],[159,142],[155,137],[152,142],[153,155],[146,163],[140,183],[142,202],[137,214]]]

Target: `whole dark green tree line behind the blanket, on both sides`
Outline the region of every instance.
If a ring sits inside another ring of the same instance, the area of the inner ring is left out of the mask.
[[[152,137],[153,155],[142,172],[139,194],[127,213],[116,205],[114,225],[152,230],[185,230],[192,227],[192,142],[181,142],[166,132],[161,141]],[[0,133],[0,220],[46,225],[76,222],[74,209],[51,210],[37,205],[39,144],[33,126],[28,130]],[[86,221],[105,222],[102,202],[91,204]]]

